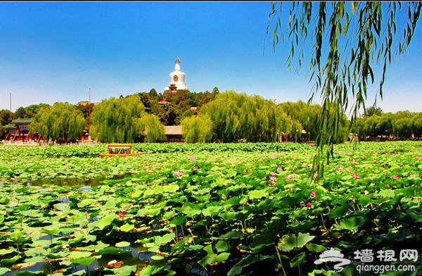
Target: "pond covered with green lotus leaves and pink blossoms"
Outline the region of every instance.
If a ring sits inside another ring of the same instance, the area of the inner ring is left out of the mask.
[[[317,182],[306,144],[106,146],[0,146],[0,275],[422,275],[421,142],[337,145]]]

